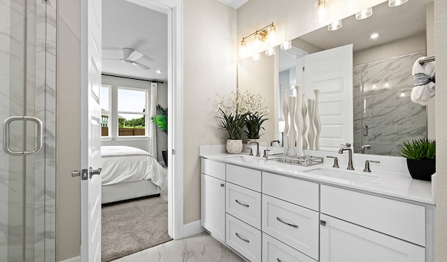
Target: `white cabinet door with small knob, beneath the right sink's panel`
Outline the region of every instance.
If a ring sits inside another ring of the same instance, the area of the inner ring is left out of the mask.
[[[423,262],[425,249],[321,214],[321,262]]]

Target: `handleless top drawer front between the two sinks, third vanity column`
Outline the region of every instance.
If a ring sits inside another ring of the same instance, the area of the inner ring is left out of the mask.
[[[263,194],[318,211],[318,184],[263,172]]]

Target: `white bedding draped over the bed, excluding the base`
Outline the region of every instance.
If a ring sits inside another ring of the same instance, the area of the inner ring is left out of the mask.
[[[166,189],[166,170],[149,152],[135,147],[101,147],[101,184],[151,180]]]

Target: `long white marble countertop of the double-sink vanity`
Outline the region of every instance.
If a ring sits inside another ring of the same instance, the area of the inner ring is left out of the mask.
[[[435,204],[435,198],[432,194],[432,182],[413,180],[408,173],[374,171],[373,167],[372,173],[365,173],[362,172],[362,169],[358,170],[358,168],[356,170],[346,170],[342,165],[340,165],[340,168],[332,168],[328,164],[295,166],[288,163],[279,163],[274,159],[265,160],[262,157],[249,157],[243,153],[200,152],[200,157],[279,175],[297,177],[320,184],[330,184],[347,189],[416,201],[418,203]],[[322,173],[332,170],[337,172],[337,175],[321,175],[321,172],[318,171],[309,173],[310,170],[318,168],[324,169]]]

